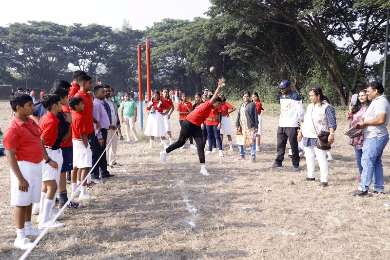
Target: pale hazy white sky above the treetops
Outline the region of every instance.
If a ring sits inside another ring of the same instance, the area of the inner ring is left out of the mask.
[[[49,20],[63,25],[103,24],[120,28],[128,20],[133,29],[144,30],[164,18],[193,20],[206,17],[209,0],[0,0],[0,26],[28,20]],[[368,62],[378,61],[378,52]]]

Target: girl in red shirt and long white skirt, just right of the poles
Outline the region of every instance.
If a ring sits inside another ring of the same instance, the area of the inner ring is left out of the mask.
[[[153,100],[151,100],[146,107],[146,113],[149,115],[146,121],[144,133],[146,136],[149,136],[149,148],[153,148],[155,137],[160,137],[164,143],[164,147],[168,148],[167,140],[165,139],[165,124],[163,116],[167,115],[170,110],[171,106],[165,100],[160,100],[160,92],[156,90],[153,95]]]

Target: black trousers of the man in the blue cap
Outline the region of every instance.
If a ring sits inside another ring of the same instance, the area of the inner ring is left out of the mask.
[[[299,166],[299,151],[298,151],[298,127],[278,127],[277,128],[277,156],[275,162],[282,163],[284,153],[286,152],[287,139],[289,139],[292,151],[292,165]]]

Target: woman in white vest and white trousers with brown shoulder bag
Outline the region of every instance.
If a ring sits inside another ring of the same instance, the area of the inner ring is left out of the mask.
[[[308,105],[298,133],[298,141],[303,140],[308,168],[308,177],[304,180],[315,181],[314,158],[316,156],[321,172],[319,186],[326,187],[328,186],[326,150],[330,149],[330,145],[334,143],[334,131],[337,128],[336,115],[320,88],[312,88],[309,92],[309,99],[311,103]]]

